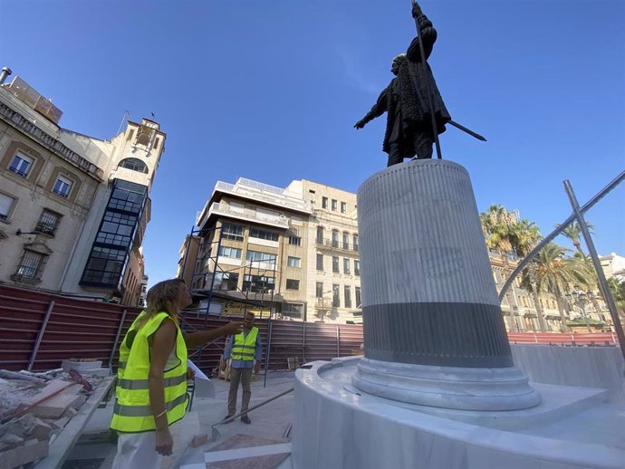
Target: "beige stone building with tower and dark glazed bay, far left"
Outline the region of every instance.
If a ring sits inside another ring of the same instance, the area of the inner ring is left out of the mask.
[[[25,81],[0,77],[0,282],[139,302],[140,245],[165,134],[126,122],[111,140],[63,129]]]

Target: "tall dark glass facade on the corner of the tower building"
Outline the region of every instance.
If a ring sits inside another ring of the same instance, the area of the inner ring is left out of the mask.
[[[81,285],[117,288],[137,233],[148,187],[115,179]]]

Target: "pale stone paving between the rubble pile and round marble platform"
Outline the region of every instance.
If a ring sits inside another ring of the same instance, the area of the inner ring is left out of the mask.
[[[276,371],[267,375],[264,388],[264,375],[255,377],[252,382],[252,400],[250,407],[293,388],[294,372]],[[216,426],[220,436],[215,442],[210,441],[211,426],[220,422],[227,414],[227,394],[229,382],[223,379],[211,379],[215,387],[215,398],[195,397],[191,411],[175,428],[172,429],[174,455],[166,459],[166,466],[179,466],[183,469],[236,467],[278,467],[290,469],[290,458],[285,458],[284,451],[290,453],[290,435],[284,436],[293,422],[293,393],[279,397],[274,401],[250,412],[251,425],[245,425],[239,419],[230,424]],[[240,407],[241,389],[237,404]],[[116,446],[108,441],[108,428],[111,422],[114,401],[105,408],[97,409],[91,421],[85,426],[81,441],[74,446],[63,469],[110,469],[115,456]],[[238,408],[237,408],[238,412]],[[197,448],[184,446],[192,436],[207,434],[208,443]],[[178,441],[177,440],[178,436]],[[284,444],[289,444],[285,446]],[[250,450],[249,448],[255,448]],[[211,455],[205,455],[213,450]],[[219,452],[219,453],[216,453]],[[278,453],[279,452],[279,453]],[[279,454],[279,455],[278,455]],[[255,456],[253,456],[255,455]],[[247,457],[246,457],[247,456]],[[236,457],[236,459],[235,459]],[[232,458],[232,459],[228,459]],[[210,461],[219,461],[213,462]]]

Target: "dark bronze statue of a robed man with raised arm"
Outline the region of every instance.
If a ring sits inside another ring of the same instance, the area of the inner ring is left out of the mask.
[[[354,125],[356,129],[362,129],[370,120],[388,112],[382,145],[382,150],[389,154],[387,166],[396,165],[404,158],[413,158],[415,155],[419,159],[432,158],[435,138],[428,91],[437,133],[444,132],[445,124],[451,120],[427,62],[437,40],[437,30],[417,4],[412,9],[412,16],[417,20],[425,59],[421,58],[418,35],[412,40],[406,53],[393,59],[390,71],[395,78],[380,93],[378,101],[367,115]]]

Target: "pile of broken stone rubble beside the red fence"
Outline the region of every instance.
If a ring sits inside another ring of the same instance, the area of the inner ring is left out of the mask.
[[[31,467],[47,456],[49,446],[106,377],[100,368],[93,373],[82,369],[82,374],[64,369],[0,369],[0,469]]]

